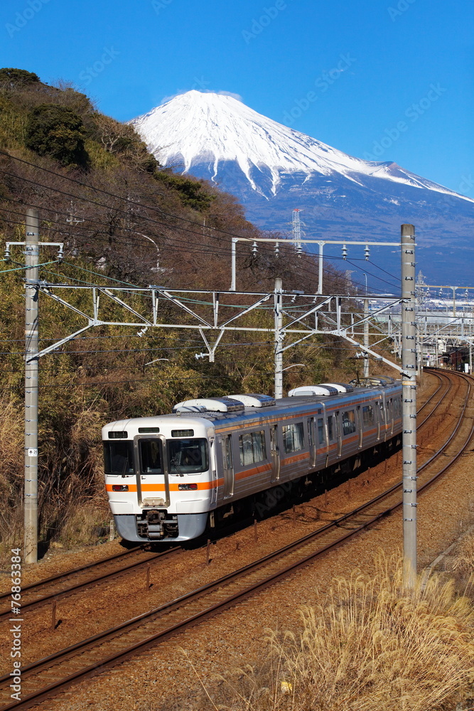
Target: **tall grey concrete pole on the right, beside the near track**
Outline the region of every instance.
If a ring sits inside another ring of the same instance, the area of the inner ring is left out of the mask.
[[[402,454],[404,584],[416,582],[415,228],[402,225]]]

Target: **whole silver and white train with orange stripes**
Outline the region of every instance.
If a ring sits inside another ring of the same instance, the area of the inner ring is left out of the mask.
[[[402,386],[391,378],[298,387],[281,400],[199,398],[171,415],[111,422],[102,440],[117,531],[129,541],[196,538],[271,488],[360,464],[401,429]]]

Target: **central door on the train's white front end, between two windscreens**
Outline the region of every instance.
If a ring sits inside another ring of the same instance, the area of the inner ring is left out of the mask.
[[[134,449],[138,464],[136,494],[139,506],[169,506],[166,439],[161,434],[154,437],[134,437]]]

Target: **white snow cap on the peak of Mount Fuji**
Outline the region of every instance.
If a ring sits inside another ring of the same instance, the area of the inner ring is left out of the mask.
[[[325,176],[342,174],[355,183],[363,176],[374,176],[457,194],[394,163],[363,161],[333,149],[257,113],[235,95],[191,90],[130,123],[161,165],[179,163],[188,172],[193,166],[208,164],[211,179],[215,179],[220,162],[235,161],[259,193],[262,188],[255,182],[255,169],[271,176],[273,194],[281,173],[309,176],[315,171]]]

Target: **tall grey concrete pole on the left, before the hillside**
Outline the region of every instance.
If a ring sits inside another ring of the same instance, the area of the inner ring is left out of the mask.
[[[25,547],[23,560],[38,562],[38,210],[26,213],[25,243]],[[29,267],[29,268],[28,268]]]

